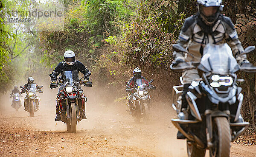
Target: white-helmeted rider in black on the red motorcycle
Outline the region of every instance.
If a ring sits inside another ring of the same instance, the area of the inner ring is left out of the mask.
[[[53,75],[56,77],[61,73],[61,76],[63,76],[64,71],[67,70],[79,70],[81,73],[86,75],[89,70],[82,64],[81,62],[75,60],[76,54],[72,50],[67,50],[63,54],[64,61],[60,62],[57,67],[55,67],[54,71],[52,72]],[[51,78],[53,83],[57,83],[56,78]],[[88,81],[88,77],[84,77],[84,81]],[[81,87],[80,87],[81,88]],[[63,90],[63,87],[59,87],[58,95]],[[82,119],[86,119],[86,115],[83,114]],[[61,116],[58,113],[58,104],[56,106],[56,118],[55,121],[61,121]]]

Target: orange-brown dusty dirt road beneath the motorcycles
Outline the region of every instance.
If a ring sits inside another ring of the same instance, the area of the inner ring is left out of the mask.
[[[87,120],[78,123],[76,134],[54,121],[54,105],[41,104],[34,118],[23,107],[15,112],[7,105],[4,110],[0,112],[0,156],[186,157],[185,140],[175,138],[169,107],[156,109],[145,125],[134,123],[125,107],[88,104]],[[233,144],[231,156],[255,157],[256,146]]]

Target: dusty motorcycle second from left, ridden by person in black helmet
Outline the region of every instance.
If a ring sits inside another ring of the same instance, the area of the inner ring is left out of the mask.
[[[43,86],[40,86],[40,89]],[[25,110],[29,112],[30,117],[34,117],[34,112],[39,110],[39,102],[41,99],[38,97],[36,92],[43,93],[42,90],[36,88],[36,84],[28,84],[28,89],[20,86],[24,91],[26,91],[26,97],[24,98]]]

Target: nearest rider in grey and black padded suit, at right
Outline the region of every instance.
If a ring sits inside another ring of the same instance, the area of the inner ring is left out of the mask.
[[[223,9],[222,0],[197,0],[198,13],[192,17],[186,18],[181,28],[177,44],[187,48],[189,56],[183,52],[174,51],[175,58],[174,66],[186,66],[186,62],[199,62],[203,55],[205,45],[223,44],[227,40],[227,44],[232,49],[233,55],[241,66],[252,66],[246,59],[246,55],[240,55],[244,49],[238,39],[236,29],[229,17],[220,13]],[[184,82],[182,94],[182,109],[186,109],[188,103],[185,95],[192,81],[200,78],[197,69],[189,69],[182,73]],[[184,119],[184,113],[180,112],[178,118]],[[178,139],[185,139],[185,137],[178,132]]]

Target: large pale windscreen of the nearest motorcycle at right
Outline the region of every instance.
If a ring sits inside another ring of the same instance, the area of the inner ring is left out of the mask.
[[[209,72],[227,74],[236,67],[237,62],[231,48],[225,43],[206,45],[200,64]]]

